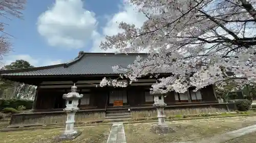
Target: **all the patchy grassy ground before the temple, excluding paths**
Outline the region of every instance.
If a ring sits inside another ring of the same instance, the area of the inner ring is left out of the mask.
[[[175,133],[158,135],[150,132],[154,123],[124,124],[126,142],[128,143],[171,143],[178,141],[194,141],[218,135],[224,132],[240,129],[256,124],[255,117],[212,118],[201,120],[172,121],[167,124],[175,129]],[[0,128],[8,122],[0,122]],[[111,125],[79,127],[82,134],[70,143],[105,143],[108,139]],[[5,143],[55,143],[52,139],[64,129],[38,129],[24,131],[0,132],[0,142]],[[244,135],[226,143],[254,142],[255,133]],[[225,143],[225,142],[222,142]]]

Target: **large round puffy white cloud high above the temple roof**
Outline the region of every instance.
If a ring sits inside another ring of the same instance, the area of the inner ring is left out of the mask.
[[[81,0],[56,0],[38,17],[37,30],[51,46],[82,48],[96,31],[94,16],[83,9]]]

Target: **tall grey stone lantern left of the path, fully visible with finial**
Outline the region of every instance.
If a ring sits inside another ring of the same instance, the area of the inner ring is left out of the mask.
[[[76,138],[81,134],[81,132],[74,130],[75,123],[75,113],[79,110],[77,107],[78,101],[83,97],[82,94],[76,92],[77,87],[71,87],[71,92],[68,94],[63,94],[62,98],[66,99],[66,108],[63,109],[67,113],[66,129],[59,137],[56,139],[61,140],[71,140]]]

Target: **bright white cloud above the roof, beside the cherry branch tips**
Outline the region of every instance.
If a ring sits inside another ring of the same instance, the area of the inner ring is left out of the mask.
[[[136,27],[140,27],[143,25],[143,22],[146,20],[146,17],[142,13],[138,13],[138,11],[135,9],[136,7],[130,4],[123,4],[121,6],[121,9],[118,13],[114,14],[112,18],[109,19],[109,21],[106,23],[106,25],[102,29],[102,35],[99,35],[98,33],[95,33],[94,41],[93,41],[93,47],[91,48],[91,52],[114,52],[116,49],[108,49],[106,51],[101,50],[99,47],[99,44],[101,41],[104,41],[105,35],[116,35],[122,30],[118,28],[118,23],[120,22],[126,22],[129,24],[135,24]]]

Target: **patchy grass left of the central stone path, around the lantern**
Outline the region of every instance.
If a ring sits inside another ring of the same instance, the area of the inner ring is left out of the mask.
[[[105,143],[108,139],[111,125],[79,127],[82,134],[69,143]],[[38,129],[0,132],[1,142],[5,143],[53,143],[52,138],[60,134],[64,129]]]

